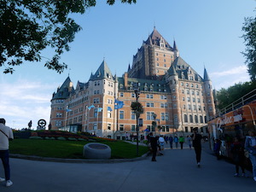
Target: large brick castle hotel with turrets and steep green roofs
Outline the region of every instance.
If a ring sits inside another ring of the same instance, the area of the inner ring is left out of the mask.
[[[74,87],[67,77],[51,99],[52,129],[116,139],[136,135],[136,115],[131,111],[131,102],[137,99],[134,84],[144,108],[140,135],[186,135],[195,127],[207,133],[207,120],[215,116],[207,70],[202,78],[179,56],[175,41],[171,46],[155,28],[122,77],[113,76],[106,61],[86,83]]]

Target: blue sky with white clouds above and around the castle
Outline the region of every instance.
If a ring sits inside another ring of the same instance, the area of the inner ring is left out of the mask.
[[[203,77],[204,67],[216,90],[249,81],[241,27],[254,16],[254,0],[137,0],[136,4],[98,0],[84,15],[72,15],[82,26],[61,56],[68,65],[64,73],[44,67],[43,62],[25,62],[15,73],[3,74],[0,67],[0,118],[21,129],[32,120],[49,124],[50,100],[69,75],[74,86],[86,83],[103,60],[113,74],[122,76],[132,64],[143,40],[154,26],[169,44],[175,39],[179,54]],[[42,52],[51,58],[52,49]]]

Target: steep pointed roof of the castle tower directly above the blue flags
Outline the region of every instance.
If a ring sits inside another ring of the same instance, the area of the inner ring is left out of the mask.
[[[113,75],[109,70],[108,64],[106,61],[102,61],[101,66],[97,69],[94,75],[91,73],[89,80],[97,80],[97,79],[113,79]]]

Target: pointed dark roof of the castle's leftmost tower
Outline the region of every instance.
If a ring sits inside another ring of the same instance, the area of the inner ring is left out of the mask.
[[[64,81],[57,92],[53,94],[52,99],[67,99],[67,97],[74,91],[73,83],[69,77]]]

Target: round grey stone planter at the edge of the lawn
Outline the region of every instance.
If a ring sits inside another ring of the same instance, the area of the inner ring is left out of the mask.
[[[108,160],[111,157],[111,148],[102,143],[88,143],[84,145],[83,156],[88,160]]]

